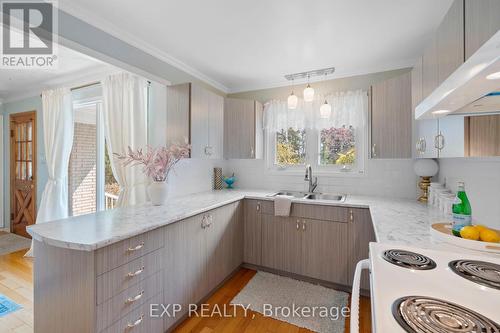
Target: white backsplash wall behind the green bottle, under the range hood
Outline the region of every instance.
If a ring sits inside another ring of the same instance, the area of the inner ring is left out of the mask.
[[[465,191],[477,223],[500,229],[500,159],[439,159],[439,180],[456,191],[465,182]]]

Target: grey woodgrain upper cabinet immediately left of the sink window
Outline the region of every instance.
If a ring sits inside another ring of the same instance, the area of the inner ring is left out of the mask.
[[[255,158],[255,101],[224,100],[224,157]]]

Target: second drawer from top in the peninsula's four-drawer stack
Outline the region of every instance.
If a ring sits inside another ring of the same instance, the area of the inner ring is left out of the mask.
[[[139,281],[161,270],[161,250],[156,250],[128,264],[97,277],[97,304],[118,295]]]

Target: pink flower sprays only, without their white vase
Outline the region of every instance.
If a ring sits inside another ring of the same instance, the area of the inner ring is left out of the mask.
[[[168,148],[147,146],[146,152],[143,152],[142,149],[133,151],[132,148],[128,147],[127,154],[115,153],[115,156],[124,166],[142,165],[142,171],[146,176],[151,177],[155,182],[164,182],[174,165],[183,158],[188,158],[190,151],[191,146],[188,144],[173,144]]]

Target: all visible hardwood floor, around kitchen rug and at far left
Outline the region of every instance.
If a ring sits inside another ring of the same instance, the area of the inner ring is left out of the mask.
[[[0,333],[33,333],[33,261],[24,258],[26,250],[0,256],[0,294],[3,294],[23,309],[4,317],[0,317]],[[217,290],[206,303],[229,304],[231,299],[255,275],[249,269],[239,270],[229,281]],[[360,333],[371,332],[370,300],[362,298],[360,304]],[[212,333],[212,332],[262,332],[262,333],[306,333],[311,332],[291,324],[264,317],[257,312],[251,316],[243,316],[243,309],[237,311],[232,318],[189,318],[175,330],[177,333]],[[254,315],[254,316],[253,316]],[[346,320],[346,333],[349,332],[349,320]]]

